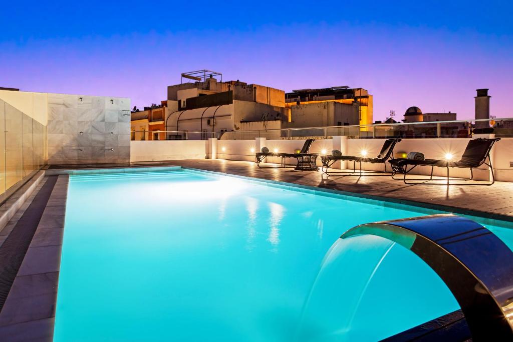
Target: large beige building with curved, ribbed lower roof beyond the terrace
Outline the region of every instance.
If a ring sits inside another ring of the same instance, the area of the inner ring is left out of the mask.
[[[288,121],[283,90],[241,81],[202,82],[168,87],[168,114],[164,127],[168,139],[182,139],[187,133],[201,138],[219,137],[241,131],[243,123]],[[171,109],[173,108],[173,109]]]

